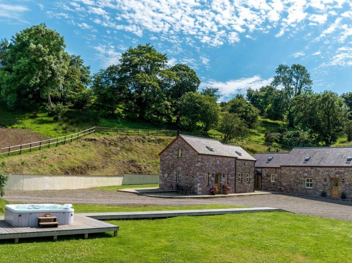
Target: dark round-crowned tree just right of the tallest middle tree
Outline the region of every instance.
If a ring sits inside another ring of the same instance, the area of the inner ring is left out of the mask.
[[[196,92],[200,85],[200,80],[196,72],[185,64],[176,64],[170,67],[170,70],[175,73],[172,78],[172,84],[169,88],[170,102],[174,116],[176,116],[175,123],[180,122],[180,98],[187,92]]]

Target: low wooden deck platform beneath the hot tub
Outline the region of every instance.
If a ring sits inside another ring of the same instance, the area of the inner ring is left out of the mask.
[[[102,222],[82,214],[74,215],[73,224],[59,225],[57,228],[24,227],[16,228],[5,222],[4,216],[0,216],[0,239],[14,238],[15,243],[18,238],[52,236],[56,240],[57,236],[84,234],[87,238],[90,233],[114,232],[114,236],[119,231],[119,226]]]

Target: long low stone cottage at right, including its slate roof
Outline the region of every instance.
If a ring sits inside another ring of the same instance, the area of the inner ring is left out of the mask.
[[[256,188],[306,195],[352,197],[352,147],[294,148],[256,153]]]

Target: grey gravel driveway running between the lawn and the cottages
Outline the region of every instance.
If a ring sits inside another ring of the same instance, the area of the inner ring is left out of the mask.
[[[245,205],[252,207],[274,207],[302,215],[335,218],[352,221],[352,202],[319,197],[292,196],[283,194],[233,196],[212,199],[169,199],[138,196],[133,193],[103,191],[95,189],[6,191],[4,197],[15,203],[72,203],[116,206],[184,206],[205,204]]]

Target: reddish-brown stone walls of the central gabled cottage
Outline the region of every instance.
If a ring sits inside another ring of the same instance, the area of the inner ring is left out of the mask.
[[[182,157],[178,157],[178,149],[182,149]],[[235,164],[236,162],[236,164]],[[236,182],[235,189],[235,166],[238,172],[242,172],[242,183]],[[178,182],[176,174],[179,172]],[[250,182],[246,182],[246,173],[250,175]],[[210,175],[207,183],[208,173]],[[170,185],[194,187],[194,193],[198,195],[209,194],[214,186],[215,178],[212,174],[220,173],[219,192],[222,193],[222,185],[226,183],[231,187],[230,193],[235,190],[238,193],[253,192],[254,161],[236,160],[230,157],[208,156],[197,154],[184,140],[178,138],[160,156],[159,186],[161,189],[170,189]],[[222,175],[225,175],[224,177]]]

